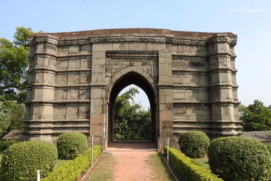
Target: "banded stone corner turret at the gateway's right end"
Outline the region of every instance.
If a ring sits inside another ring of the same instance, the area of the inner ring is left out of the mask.
[[[218,33],[208,39],[211,137],[240,135],[241,128],[237,105],[233,97],[231,38]]]

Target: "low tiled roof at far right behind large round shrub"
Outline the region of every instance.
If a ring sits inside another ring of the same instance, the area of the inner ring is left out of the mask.
[[[245,131],[243,137],[254,138],[263,144],[271,145],[271,131]]]

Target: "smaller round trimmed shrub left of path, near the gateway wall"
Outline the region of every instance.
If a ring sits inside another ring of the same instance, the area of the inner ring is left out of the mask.
[[[74,159],[88,147],[87,137],[82,133],[70,132],[59,136],[57,152],[60,159]]]

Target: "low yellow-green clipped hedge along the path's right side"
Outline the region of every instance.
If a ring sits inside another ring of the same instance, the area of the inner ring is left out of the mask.
[[[167,146],[164,147],[164,153],[167,153]],[[171,147],[169,147],[169,158],[188,180],[208,181],[208,179],[212,179],[212,181],[223,181],[222,179],[217,178],[217,176],[212,174],[209,170],[196,164],[191,158]]]

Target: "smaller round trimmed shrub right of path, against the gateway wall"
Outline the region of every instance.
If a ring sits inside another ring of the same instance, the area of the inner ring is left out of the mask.
[[[209,144],[208,136],[201,131],[187,131],[179,136],[180,150],[190,158],[206,156]]]

